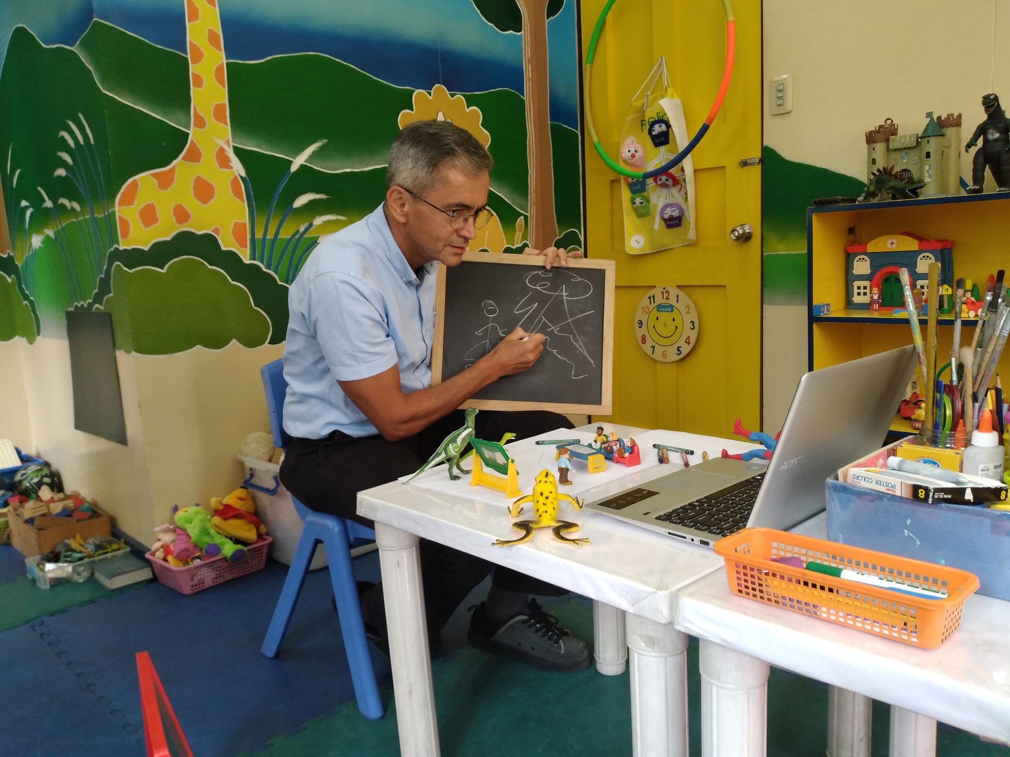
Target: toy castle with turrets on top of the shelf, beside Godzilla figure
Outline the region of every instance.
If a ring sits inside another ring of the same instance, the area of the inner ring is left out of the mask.
[[[926,127],[921,134],[899,134],[898,124],[888,118],[867,132],[867,179],[881,169],[896,172],[907,169],[925,186],[920,197],[960,195],[961,189],[961,113],[933,118],[926,113]]]

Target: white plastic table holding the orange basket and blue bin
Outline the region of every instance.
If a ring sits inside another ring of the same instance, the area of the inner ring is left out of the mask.
[[[704,757],[765,755],[769,665],[837,687],[845,727],[863,713],[869,732],[870,699],[890,704],[891,757],[932,757],[937,720],[1010,744],[1010,602],[970,597],[924,650],[737,597],[722,569],[680,592],[676,625],[701,639]]]

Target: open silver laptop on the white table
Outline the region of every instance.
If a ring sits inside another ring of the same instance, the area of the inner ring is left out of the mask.
[[[586,507],[704,546],[746,526],[793,528],[824,510],[831,473],[883,444],[915,361],[909,345],[805,373],[767,465],[715,457],[613,481]]]

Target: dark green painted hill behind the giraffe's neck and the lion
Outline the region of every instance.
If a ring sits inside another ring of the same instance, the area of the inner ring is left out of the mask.
[[[189,75],[184,56],[100,20],[91,24],[76,48],[105,92],[181,130],[189,128]],[[313,52],[257,63],[232,61],[227,64],[227,77],[236,145],[290,159],[315,140],[339,134],[339,139],[330,138],[312,155],[311,167],[325,172],[385,166],[389,145],[399,131],[397,118],[401,111],[411,109],[414,92]],[[493,90],[467,94],[466,99],[468,105],[481,109],[482,125],[492,137],[490,149],[496,163],[492,188],[525,213],[522,97],[510,90]],[[550,134],[556,176],[578,181],[579,134],[557,123],[551,124]],[[241,151],[239,157],[244,163]],[[267,184],[272,191],[274,185]],[[256,189],[260,202],[260,189]],[[559,193],[556,205],[562,230],[581,227],[576,193]]]

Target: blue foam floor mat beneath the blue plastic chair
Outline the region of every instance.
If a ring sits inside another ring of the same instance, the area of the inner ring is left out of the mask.
[[[377,554],[358,558],[355,568],[359,578],[377,580]],[[140,651],[150,652],[197,755],[259,751],[307,720],[332,716],[354,690],[327,570],[306,578],[278,657],[260,654],[286,575],[286,565],[270,561],[263,571],[189,597],[156,582],[3,632],[0,647],[31,664],[3,666],[8,728],[0,755],[142,754],[134,661]],[[389,659],[373,650],[373,660],[380,685],[389,686]],[[44,747],[36,726],[10,727],[69,701]],[[215,722],[221,710],[230,714]]]

